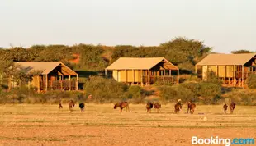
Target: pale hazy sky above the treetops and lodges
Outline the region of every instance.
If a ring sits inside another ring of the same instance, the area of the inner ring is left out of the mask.
[[[199,39],[214,52],[256,51],[255,0],[0,0],[0,47],[159,45]]]

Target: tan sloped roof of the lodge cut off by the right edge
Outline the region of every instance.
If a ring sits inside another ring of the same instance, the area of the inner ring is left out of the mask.
[[[225,65],[244,65],[249,62],[256,53],[243,54],[210,54],[206,56],[197,66],[225,66]]]

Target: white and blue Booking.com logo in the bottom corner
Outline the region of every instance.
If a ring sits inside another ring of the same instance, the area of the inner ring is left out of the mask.
[[[230,145],[246,145],[246,144],[254,144],[254,139],[252,138],[235,138],[235,139],[222,139],[218,136],[210,137],[207,139],[199,139],[197,136],[192,136],[192,144],[204,144],[204,145],[213,145],[213,144],[223,144],[225,146]]]

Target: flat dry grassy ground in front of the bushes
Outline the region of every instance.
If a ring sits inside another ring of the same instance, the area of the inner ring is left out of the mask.
[[[86,106],[69,113],[67,105],[0,105],[0,145],[189,145],[192,135],[256,137],[256,107],[238,106],[225,115],[222,106],[197,106],[190,115],[183,106],[177,115],[173,104],[160,113],[146,113],[145,105],[122,113],[112,104]]]

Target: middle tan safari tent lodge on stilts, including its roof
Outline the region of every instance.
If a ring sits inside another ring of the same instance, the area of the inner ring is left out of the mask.
[[[179,70],[164,57],[121,57],[105,69],[118,82],[149,85],[157,81],[178,84]]]

